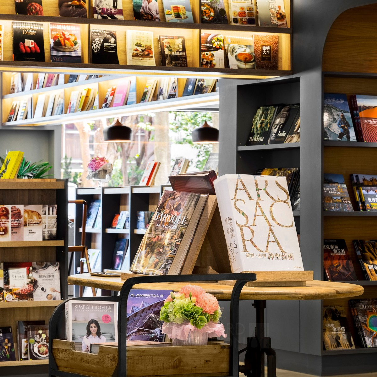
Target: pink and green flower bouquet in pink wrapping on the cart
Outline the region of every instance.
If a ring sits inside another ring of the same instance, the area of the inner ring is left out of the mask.
[[[227,336],[219,323],[221,310],[215,296],[198,285],[185,285],[171,292],[160,311],[162,333],[174,345],[206,345],[208,338]]]

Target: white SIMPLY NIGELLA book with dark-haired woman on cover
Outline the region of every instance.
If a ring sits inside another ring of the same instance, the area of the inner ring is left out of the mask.
[[[91,343],[118,341],[117,302],[69,300],[65,310],[67,340],[81,342],[82,351]]]

